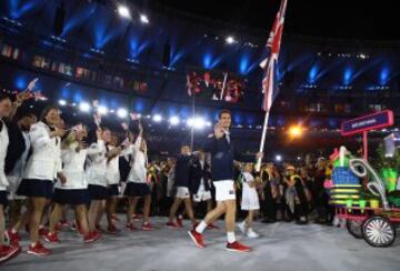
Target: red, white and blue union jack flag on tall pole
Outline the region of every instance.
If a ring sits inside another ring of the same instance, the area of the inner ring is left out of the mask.
[[[267,57],[260,63],[260,67],[264,70],[264,77],[262,79],[262,92],[264,94],[262,110],[267,112],[271,109],[273,99],[278,96],[279,91],[277,70],[287,3],[288,0],[281,0],[281,6],[274,19],[269,39],[267,41]]]

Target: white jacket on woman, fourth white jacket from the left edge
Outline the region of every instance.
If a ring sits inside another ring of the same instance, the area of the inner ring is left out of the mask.
[[[107,187],[107,158],[106,143],[99,140],[92,143],[88,149],[88,162],[86,177],[89,184]]]

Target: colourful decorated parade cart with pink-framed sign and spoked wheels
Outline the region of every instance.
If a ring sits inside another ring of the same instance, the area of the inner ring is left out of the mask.
[[[328,182],[330,204],[339,220],[346,220],[351,235],[377,248],[391,245],[400,224],[400,133],[382,140],[380,162],[374,169],[368,161],[368,131],[393,124],[390,110],[363,116],[342,123],[342,136],[363,136],[363,158],[344,147],[331,154],[332,178]]]

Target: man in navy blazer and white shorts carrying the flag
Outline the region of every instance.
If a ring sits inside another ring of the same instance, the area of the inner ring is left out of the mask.
[[[220,111],[214,132],[208,137],[204,145],[204,150],[211,153],[211,180],[216,187],[217,207],[206,215],[196,229],[188,233],[199,248],[204,248],[202,232],[208,224],[224,213],[227,250],[249,252],[250,248],[239,243],[234,237],[237,209],[233,187],[234,164],[236,159],[240,159],[241,155],[233,148],[229,132],[230,126],[231,112],[228,110]],[[262,153],[257,153],[257,158],[262,158]]]

